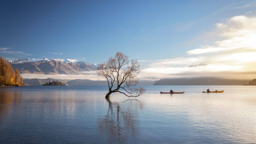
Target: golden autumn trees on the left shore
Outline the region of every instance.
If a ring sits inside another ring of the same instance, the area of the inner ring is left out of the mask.
[[[22,86],[23,80],[20,76],[20,71],[16,68],[15,72],[11,64],[4,60],[1,56],[0,58],[0,86]]]

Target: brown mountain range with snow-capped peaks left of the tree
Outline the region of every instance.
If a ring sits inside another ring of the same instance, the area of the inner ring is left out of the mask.
[[[97,64],[77,61],[73,58],[64,60],[21,58],[8,62],[13,69],[17,68],[22,74],[83,74],[84,71],[95,71],[97,67]]]

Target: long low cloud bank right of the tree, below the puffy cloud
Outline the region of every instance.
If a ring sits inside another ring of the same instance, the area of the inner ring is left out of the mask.
[[[222,77],[230,79],[251,79],[256,74],[256,52],[237,52],[233,54],[214,55],[209,57],[183,58],[192,60],[189,63],[196,63],[188,67],[169,67],[162,61],[154,62],[154,67],[144,68],[139,74],[142,80],[179,77]],[[167,59],[168,60],[168,59]],[[175,62],[178,59],[173,59]],[[195,60],[193,62],[193,60]],[[163,60],[164,61],[164,60]],[[170,62],[170,63],[172,63]]]

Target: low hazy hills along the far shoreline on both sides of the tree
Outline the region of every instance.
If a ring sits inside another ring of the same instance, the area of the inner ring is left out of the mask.
[[[88,79],[75,79],[75,80],[63,80],[63,79],[24,79],[23,82],[32,86],[40,86],[48,82],[59,81],[69,86],[107,86],[106,81],[100,80],[88,80]],[[255,80],[252,80],[255,82]],[[248,83],[248,80],[232,80],[232,79],[220,79],[214,77],[200,77],[200,78],[177,78],[177,79],[160,79],[155,80],[139,80],[138,86],[177,86],[177,85],[243,85]]]

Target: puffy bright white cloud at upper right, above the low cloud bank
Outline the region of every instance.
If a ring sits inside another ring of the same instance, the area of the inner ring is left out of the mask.
[[[201,48],[187,51],[188,55],[228,52],[234,50],[256,51],[256,17],[244,15],[229,18],[225,24],[215,24],[218,37],[223,40],[215,41],[214,45],[204,45]]]

